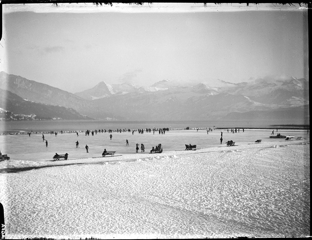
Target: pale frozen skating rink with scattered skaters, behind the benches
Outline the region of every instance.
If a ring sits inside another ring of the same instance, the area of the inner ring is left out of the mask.
[[[86,136],[84,132],[80,132],[78,137],[76,133],[59,133],[57,136],[44,134],[48,141],[48,147],[42,141],[42,134],[27,134],[18,135],[0,135],[0,150],[3,154],[7,154],[11,159],[16,160],[51,160],[55,153],[69,154],[69,159],[100,157],[106,149],[107,151],[116,151],[116,155],[135,153],[135,144],[144,144],[145,151],[149,152],[152,147],[162,144],[163,151],[169,150],[184,150],[185,144],[197,145],[197,149],[216,147],[220,145],[221,131],[223,133],[223,142],[233,140],[236,145],[254,143],[257,139],[262,139],[262,142],[279,142],[285,139],[271,139],[272,130],[267,129],[245,129],[243,132],[231,133],[231,129],[227,132],[224,130],[212,130],[207,134],[206,130],[170,130],[165,134],[159,134],[155,131],[150,133],[145,132],[139,134],[134,132],[113,132],[112,140],[110,133],[98,133],[92,136]],[[281,135],[293,135],[295,137],[302,136],[308,138],[306,130],[279,130],[277,133]],[[275,129],[276,135],[276,129]],[[129,141],[129,146],[126,146],[126,139]],[[79,142],[79,148],[76,148],[76,141]],[[89,153],[86,153],[85,145],[89,146]],[[141,149],[139,150],[141,152]],[[138,156],[139,157],[139,156]]]

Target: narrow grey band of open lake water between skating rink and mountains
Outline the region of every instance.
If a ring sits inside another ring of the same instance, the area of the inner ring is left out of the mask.
[[[307,124],[306,124],[307,123]],[[286,122],[286,121],[232,121],[232,120],[181,120],[181,121],[90,121],[90,120],[44,120],[44,121],[0,121],[0,133],[12,134],[19,132],[37,132],[50,133],[54,132],[85,132],[85,130],[113,130],[135,131],[138,129],[163,129],[169,130],[207,130],[207,129],[293,129],[293,130],[308,130],[310,125],[308,122]],[[153,130],[152,130],[153,131]]]

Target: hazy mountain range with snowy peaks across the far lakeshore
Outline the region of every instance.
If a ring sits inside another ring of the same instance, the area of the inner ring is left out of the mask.
[[[181,86],[169,80],[149,87],[127,83],[110,85],[102,81],[72,94],[2,71],[0,88],[8,97],[1,100],[0,107],[2,112],[35,114],[39,119],[252,121],[271,117],[277,121],[289,119],[297,123],[301,120],[301,124],[305,119],[309,122],[309,82],[305,79],[266,77],[241,83],[217,81],[219,87],[204,83]],[[17,107],[17,100],[27,111]],[[63,107],[62,110],[59,107]]]

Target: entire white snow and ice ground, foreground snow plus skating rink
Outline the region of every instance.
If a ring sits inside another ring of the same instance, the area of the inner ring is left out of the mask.
[[[220,130],[113,133],[112,140],[108,133],[45,134],[47,148],[40,134],[1,135],[1,152],[11,157],[0,162],[6,237],[309,236],[306,131],[279,130],[303,138],[288,142],[270,139],[269,130],[222,132],[222,145]],[[135,143],[145,153],[136,154]],[[159,143],[163,153],[149,154]],[[190,143],[198,149],[185,151]],[[104,148],[119,156],[100,157]],[[69,159],[51,161],[55,152]]]

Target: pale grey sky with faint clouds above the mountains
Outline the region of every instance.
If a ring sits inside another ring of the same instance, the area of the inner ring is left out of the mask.
[[[1,71],[72,93],[108,84],[306,78],[306,9],[4,4]]]

